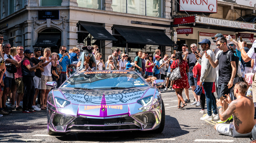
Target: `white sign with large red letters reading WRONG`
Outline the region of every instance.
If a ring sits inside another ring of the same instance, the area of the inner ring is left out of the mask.
[[[217,13],[217,0],[180,0],[180,11]]]

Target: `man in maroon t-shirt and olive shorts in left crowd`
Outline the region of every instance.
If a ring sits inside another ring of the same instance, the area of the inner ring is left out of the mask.
[[[21,72],[21,61],[22,61],[22,58],[23,58],[24,48],[23,48],[23,46],[17,46],[16,50],[17,50],[17,55],[13,57],[15,59],[15,61],[18,62],[18,65],[16,65],[17,72],[14,73],[15,83],[16,83],[16,86],[17,86],[16,108],[15,108],[15,110],[16,111],[21,111],[22,107],[20,106],[20,101],[21,101],[20,99],[21,99],[21,97],[23,97],[23,94],[24,94],[24,90],[23,90],[24,85],[23,85],[23,81],[22,81],[22,72]],[[15,95],[12,95],[12,96],[15,96]],[[14,100],[11,100],[11,104],[14,106]],[[12,105],[11,105],[11,108],[12,108]]]

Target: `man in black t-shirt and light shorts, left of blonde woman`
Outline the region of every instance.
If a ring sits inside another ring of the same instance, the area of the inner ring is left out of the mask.
[[[34,56],[30,59],[30,61],[32,62],[33,66],[37,65],[40,61],[42,63],[45,62],[46,59],[43,59],[43,60],[39,60],[38,58],[40,57],[41,55],[41,49],[37,48],[34,50]],[[34,80],[34,87],[35,87],[35,95],[34,95],[34,99],[33,99],[33,109],[35,109],[35,100],[36,100],[36,97],[38,95],[38,91],[39,89],[41,89],[41,73],[44,71],[44,67],[41,65],[40,67],[38,67],[35,71],[35,76],[33,78]],[[38,97],[38,99],[40,99],[40,96]],[[40,100],[37,100],[37,104],[41,104],[39,103]],[[39,108],[41,110],[41,108]],[[37,109],[38,110],[38,109]]]

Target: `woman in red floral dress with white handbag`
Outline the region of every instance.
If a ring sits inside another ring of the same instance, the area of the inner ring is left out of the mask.
[[[189,72],[189,68],[187,62],[182,59],[180,51],[177,51],[175,53],[175,58],[176,60],[173,61],[171,65],[171,72],[179,65],[182,78],[174,81],[173,88],[175,89],[176,95],[178,96],[178,108],[183,108],[187,105],[182,97],[182,91],[184,88],[189,88],[188,78],[186,74],[186,72]]]

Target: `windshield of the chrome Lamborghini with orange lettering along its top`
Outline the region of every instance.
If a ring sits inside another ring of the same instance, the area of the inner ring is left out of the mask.
[[[61,87],[81,89],[122,89],[150,86],[134,71],[87,71],[73,74]]]

